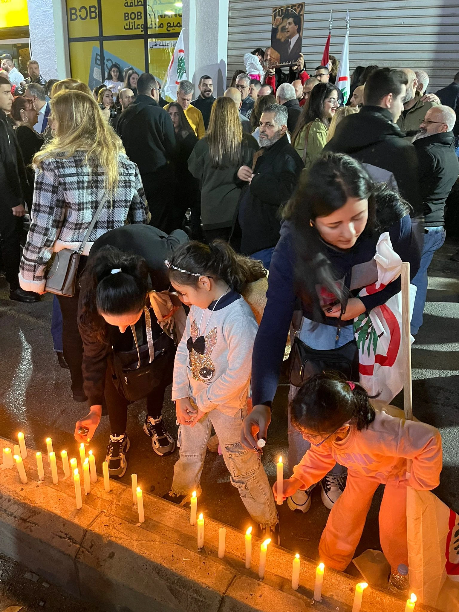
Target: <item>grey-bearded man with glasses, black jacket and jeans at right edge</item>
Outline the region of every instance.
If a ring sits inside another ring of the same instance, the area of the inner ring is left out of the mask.
[[[459,174],[452,132],[456,114],[449,106],[433,106],[420,124],[413,144],[419,159],[419,182],[424,207],[424,244],[419,271],[411,281],[417,287],[411,318],[411,334],[422,325],[427,296],[427,270],[433,254],[445,241],[444,208],[446,198]]]

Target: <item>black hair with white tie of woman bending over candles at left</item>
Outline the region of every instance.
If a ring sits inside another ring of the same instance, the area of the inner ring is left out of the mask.
[[[120,272],[112,271],[120,270]],[[148,268],[143,258],[105,246],[88,261],[81,276],[78,323],[96,341],[106,338],[100,312],[123,315],[140,311],[149,289]]]

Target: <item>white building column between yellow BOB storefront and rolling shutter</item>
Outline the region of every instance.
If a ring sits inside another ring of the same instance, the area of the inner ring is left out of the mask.
[[[226,89],[229,0],[184,0],[185,61],[188,79],[198,93],[200,76],[214,80],[214,95]]]

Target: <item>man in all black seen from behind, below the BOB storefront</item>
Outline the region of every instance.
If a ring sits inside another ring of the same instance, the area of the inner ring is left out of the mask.
[[[158,104],[160,86],[149,73],[139,76],[138,95],[121,113],[116,131],[129,159],[138,165],[151,225],[174,230],[176,137],[169,113]]]

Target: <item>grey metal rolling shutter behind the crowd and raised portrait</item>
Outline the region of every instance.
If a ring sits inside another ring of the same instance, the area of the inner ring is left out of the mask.
[[[244,53],[269,47],[271,12],[276,6],[282,2],[230,0],[228,82],[234,70],[244,69]],[[305,2],[302,53],[309,73],[322,58],[330,9],[334,18],[330,53],[338,61],[349,9],[351,72],[357,65],[369,64],[422,69],[430,76],[433,92],[459,72],[459,0],[315,0]]]

